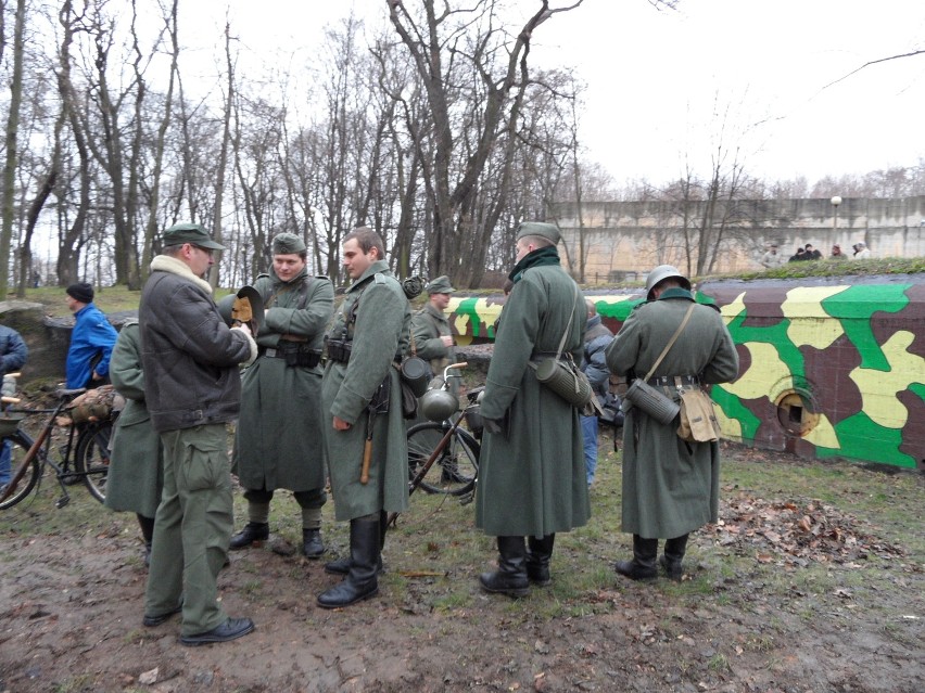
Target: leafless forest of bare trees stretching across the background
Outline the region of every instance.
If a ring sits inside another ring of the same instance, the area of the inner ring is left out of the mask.
[[[382,0],[379,16],[327,27],[309,64],[267,74],[239,67],[228,23],[207,80],[188,67],[197,27],[178,2],[0,0],[0,295],[36,281],[140,287],[159,231],[186,220],[229,247],[215,284],[265,270],[281,231],[303,235],[314,270],[339,281],[341,239],[370,226],[402,275],[474,287],[507,271],[517,222],[547,218],[556,200],[669,200],[679,214],[708,201],[692,242],[719,244],[735,241],[714,230],[737,200],[925,192],[921,158],[864,177],[757,180],[719,100],[710,161],[682,162],[673,181],[616,183],[579,137],[581,76],[535,67],[531,51],[583,0],[532,0],[519,24],[503,0]]]

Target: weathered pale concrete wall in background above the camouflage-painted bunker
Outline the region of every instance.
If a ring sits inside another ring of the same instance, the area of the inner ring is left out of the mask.
[[[837,207],[825,200],[745,200],[730,215],[727,239],[712,272],[760,269],[766,246],[778,243],[789,257],[798,245],[812,243],[824,256],[833,244],[851,254],[863,241],[873,257],[925,256],[925,196],[897,200],[845,198]],[[704,203],[688,209],[688,227],[696,227]],[[677,203],[585,203],[581,210],[585,241],[585,280],[621,281],[641,275],[656,265],[686,270],[683,221]],[[558,222],[570,265],[579,256],[579,210],[575,203],[557,203],[550,219]],[[575,258],[575,259],[571,259]],[[690,258],[696,266],[696,255]]]

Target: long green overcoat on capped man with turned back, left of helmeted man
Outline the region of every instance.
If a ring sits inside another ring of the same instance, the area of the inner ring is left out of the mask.
[[[476,523],[489,535],[544,537],[591,516],[578,410],[529,365],[555,355],[570,317],[565,350],[580,363],[587,309],[558,265],[524,270],[505,304],[481,406],[509,427],[482,438]]]

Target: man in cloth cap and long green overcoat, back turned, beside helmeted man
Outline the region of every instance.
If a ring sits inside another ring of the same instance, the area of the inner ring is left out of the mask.
[[[563,334],[563,352],[581,362],[584,297],[559,264],[554,224],[521,223],[517,239],[514,288],[482,398],[476,496],[476,523],[497,537],[499,553],[498,570],[480,581],[509,596],[525,594],[530,582],[547,585],[556,532],[591,516],[578,411],[531,368],[557,357]]]

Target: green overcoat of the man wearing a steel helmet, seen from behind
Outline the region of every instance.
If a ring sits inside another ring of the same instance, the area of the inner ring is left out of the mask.
[[[669,288],[639,305],[607,347],[607,367],[617,375],[645,377],[684,319],[689,292]],[[738,373],[738,355],[720,313],[695,306],[687,326],[659,364],[659,375],[699,375],[726,383]],[[674,398],[680,399],[674,392]],[[685,442],[677,416],[660,424],[633,408],[623,424],[623,531],[646,539],[673,539],[717,522],[720,448]]]

